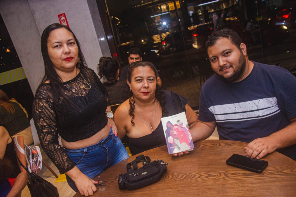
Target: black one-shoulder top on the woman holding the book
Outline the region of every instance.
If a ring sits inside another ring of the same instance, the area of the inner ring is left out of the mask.
[[[186,112],[185,105],[187,104],[188,99],[169,90],[164,90],[163,92],[165,93],[165,108],[168,111],[167,116]],[[139,138],[127,138],[131,142],[130,151],[133,155],[158,146],[166,145],[161,121],[152,133]]]

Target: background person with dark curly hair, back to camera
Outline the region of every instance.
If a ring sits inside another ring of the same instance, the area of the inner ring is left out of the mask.
[[[128,99],[126,81],[118,81],[119,64],[116,59],[101,57],[97,66],[97,72],[104,81],[103,85],[107,89],[111,105],[123,103]]]

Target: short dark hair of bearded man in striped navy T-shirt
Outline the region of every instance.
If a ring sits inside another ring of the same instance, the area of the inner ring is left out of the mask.
[[[215,45],[217,40],[220,38],[227,38],[240,50],[240,44],[242,40],[239,38],[237,32],[230,30],[230,29],[222,29],[216,31],[207,37],[207,41],[205,42],[205,48],[212,47]]]

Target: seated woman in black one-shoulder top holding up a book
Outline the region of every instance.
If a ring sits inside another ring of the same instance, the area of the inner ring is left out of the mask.
[[[114,115],[118,136],[128,137],[133,155],[166,144],[161,117],[185,111],[189,128],[197,122],[197,114],[187,105],[188,99],[161,90],[155,73],[155,67],[147,61],[137,61],[128,68],[129,99]]]

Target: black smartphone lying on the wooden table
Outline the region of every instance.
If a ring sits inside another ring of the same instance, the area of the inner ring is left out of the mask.
[[[250,170],[252,172],[261,173],[268,165],[268,162],[261,159],[254,159],[239,154],[233,154],[226,160],[226,164]]]

